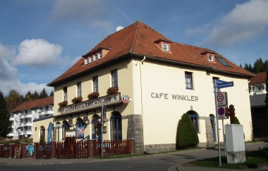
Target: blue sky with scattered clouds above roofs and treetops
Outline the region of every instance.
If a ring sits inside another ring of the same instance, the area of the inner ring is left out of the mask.
[[[49,82],[137,20],[173,42],[254,65],[268,59],[267,9],[267,0],[1,0],[0,91],[50,94]]]

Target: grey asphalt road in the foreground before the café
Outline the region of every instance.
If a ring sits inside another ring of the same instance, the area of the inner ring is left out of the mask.
[[[268,143],[245,144],[246,151],[257,150],[260,146],[267,146]],[[224,155],[224,151],[221,151]],[[212,158],[218,156],[218,149],[198,149],[193,151],[179,151],[176,153],[148,155],[145,157],[120,158],[114,160],[101,160],[90,163],[66,163],[54,165],[0,165],[1,171],[35,170],[35,171],[59,171],[59,170],[168,170],[174,165],[188,163],[192,160]],[[49,159],[53,160],[53,159]],[[54,159],[57,160],[57,159]],[[89,159],[90,160],[90,159]],[[0,159],[1,161],[1,159]],[[71,160],[70,160],[71,161]]]

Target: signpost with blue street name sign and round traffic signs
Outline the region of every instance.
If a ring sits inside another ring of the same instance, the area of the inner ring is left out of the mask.
[[[221,166],[221,148],[219,144],[219,118],[225,119],[225,108],[222,106],[227,105],[227,96],[226,93],[216,93],[217,89],[223,89],[226,87],[233,87],[233,82],[224,82],[221,80],[214,81],[214,92],[215,92],[215,110],[216,110],[216,118],[217,118],[217,133],[218,133],[218,149],[219,149],[219,165]],[[223,124],[224,127],[224,124]]]

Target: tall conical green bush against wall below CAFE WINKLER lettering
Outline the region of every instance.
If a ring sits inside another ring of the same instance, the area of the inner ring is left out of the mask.
[[[176,148],[191,148],[199,143],[197,132],[188,113],[184,113],[178,122]]]

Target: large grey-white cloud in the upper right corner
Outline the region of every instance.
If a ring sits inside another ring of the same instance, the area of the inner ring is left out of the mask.
[[[255,39],[267,32],[268,26],[268,1],[252,0],[244,4],[236,4],[236,8],[214,23],[212,31],[207,35],[203,44],[217,44],[226,46]],[[212,25],[212,23],[211,23]],[[186,30],[190,34],[197,34],[207,30],[207,26],[194,30]]]

